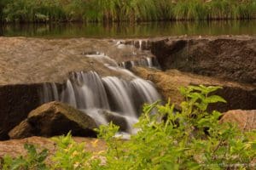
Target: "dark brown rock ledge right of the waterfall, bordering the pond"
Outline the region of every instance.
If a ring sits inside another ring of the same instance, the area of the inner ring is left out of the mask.
[[[164,70],[256,84],[255,37],[169,37],[150,46]]]

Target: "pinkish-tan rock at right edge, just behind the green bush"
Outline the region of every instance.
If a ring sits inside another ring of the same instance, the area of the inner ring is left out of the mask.
[[[238,127],[244,131],[256,129],[256,110],[253,111],[227,111],[220,119],[220,122],[237,123]]]

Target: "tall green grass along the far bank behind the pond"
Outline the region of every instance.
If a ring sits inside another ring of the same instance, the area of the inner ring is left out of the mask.
[[[5,22],[243,20],[255,0],[0,0]]]

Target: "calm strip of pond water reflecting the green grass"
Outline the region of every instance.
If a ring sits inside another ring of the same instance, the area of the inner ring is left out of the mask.
[[[0,26],[8,37],[160,37],[179,35],[255,35],[256,20],[211,22],[151,22],[129,24],[39,24]]]

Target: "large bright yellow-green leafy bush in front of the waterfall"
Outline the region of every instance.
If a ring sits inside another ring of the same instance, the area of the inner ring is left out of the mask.
[[[175,112],[169,101],[145,105],[131,139],[115,137],[119,127],[109,123],[96,131],[108,150],[91,154],[70,133],[55,139],[57,151],[49,169],[253,169],[256,133],[241,132],[234,124],[218,122],[218,111],[207,111],[212,103],[225,102],[212,95],[219,87],[181,88],[185,101]],[[156,113],[152,111],[156,110]],[[35,159],[38,160],[38,159]],[[3,166],[15,160],[5,159]],[[25,161],[31,162],[31,161]],[[32,161],[34,162],[34,161]],[[41,160],[39,165],[41,165]],[[7,164],[7,165],[6,165]],[[19,169],[19,168],[13,168]],[[25,168],[26,169],[26,168]]]

